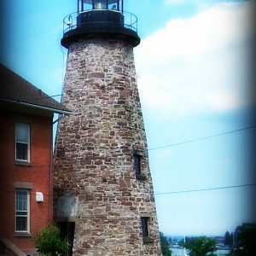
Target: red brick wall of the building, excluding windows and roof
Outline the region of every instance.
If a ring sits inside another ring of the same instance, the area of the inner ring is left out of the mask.
[[[33,248],[36,235],[52,219],[52,187],[50,166],[52,152],[52,118],[29,113],[1,111],[0,125],[0,236],[21,249]],[[15,122],[31,125],[31,161],[29,166],[15,162]],[[15,187],[30,189],[30,236],[15,234]],[[43,192],[44,202],[36,201]]]

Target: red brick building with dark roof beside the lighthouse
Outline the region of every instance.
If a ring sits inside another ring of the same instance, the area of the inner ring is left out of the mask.
[[[32,236],[53,218],[54,113],[69,111],[0,65],[0,113],[0,242],[32,253]]]

